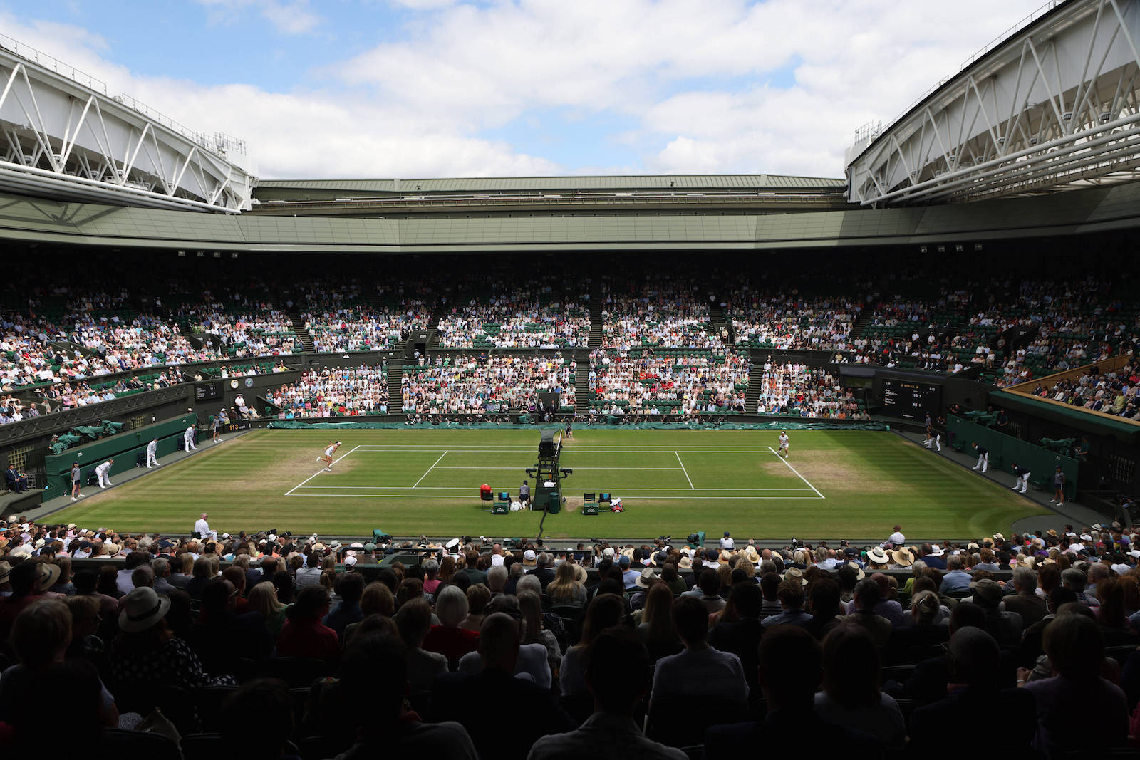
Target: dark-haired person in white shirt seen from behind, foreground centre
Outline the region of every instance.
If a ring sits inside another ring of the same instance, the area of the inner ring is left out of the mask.
[[[740,657],[719,652],[706,640],[708,608],[705,604],[682,596],[673,603],[673,624],[685,648],[658,661],[650,698],[715,696],[746,702],[748,681]]]

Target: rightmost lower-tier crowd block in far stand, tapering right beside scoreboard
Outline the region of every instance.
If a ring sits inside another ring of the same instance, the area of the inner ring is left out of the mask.
[[[860,410],[850,389],[841,389],[839,378],[828,370],[773,362],[771,357],[764,362],[760,375],[756,411],[760,415],[870,418],[865,410]]]

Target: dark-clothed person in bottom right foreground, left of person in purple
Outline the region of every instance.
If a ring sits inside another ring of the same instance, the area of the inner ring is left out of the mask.
[[[1029,750],[1036,726],[1036,706],[1024,689],[999,685],[1001,652],[997,641],[979,628],[954,635],[947,662],[951,694],[911,714],[910,738],[915,746],[935,746],[945,741],[947,726],[967,726],[980,714],[1001,714],[1002,730],[986,738],[987,751],[1024,754]]]

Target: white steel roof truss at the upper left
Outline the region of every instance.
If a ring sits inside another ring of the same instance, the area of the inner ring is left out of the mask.
[[[231,138],[195,134],[0,38],[0,190],[238,213],[250,207],[258,180],[227,157],[235,148],[244,153]]]

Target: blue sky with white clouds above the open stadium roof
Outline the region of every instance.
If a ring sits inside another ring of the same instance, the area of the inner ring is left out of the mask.
[[[842,177],[1044,0],[0,0],[262,179]]]

